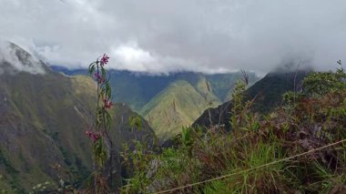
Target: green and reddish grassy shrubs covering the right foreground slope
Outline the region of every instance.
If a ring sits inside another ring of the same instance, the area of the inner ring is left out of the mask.
[[[122,191],[152,193],[183,187],[170,191],[344,193],[345,80],[342,68],[312,73],[300,92],[284,94],[284,103],[267,114],[251,108],[254,101],[246,101],[246,85],[239,82],[230,110],[231,131],[183,128],[172,148],[144,154],[137,146],[136,153],[142,154],[126,155],[131,158],[127,161],[136,161],[136,168]],[[184,187],[196,182],[200,184]]]

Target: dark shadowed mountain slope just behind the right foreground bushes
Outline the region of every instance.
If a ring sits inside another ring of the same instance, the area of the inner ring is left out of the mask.
[[[300,70],[297,72],[270,73],[249,87],[245,96],[248,99],[256,97],[252,106],[255,111],[270,112],[272,108],[280,105],[282,95],[285,92],[301,89],[301,81],[309,72],[309,70]],[[215,125],[224,125],[226,129],[230,129],[231,107],[232,102],[228,101],[219,107],[209,108],[196,119],[192,126],[210,128]]]

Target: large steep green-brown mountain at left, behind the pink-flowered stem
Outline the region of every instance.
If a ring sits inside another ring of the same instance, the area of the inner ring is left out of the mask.
[[[75,186],[85,184],[92,170],[85,131],[94,120],[96,84],[89,77],[56,73],[15,44],[5,48],[0,53],[0,188],[23,193],[37,183],[56,185],[74,176]],[[112,107],[111,115],[119,185],[122,143],[155,135],[143,118],[142,132],[130,130],[128,117],[137,114],[125,104]]]

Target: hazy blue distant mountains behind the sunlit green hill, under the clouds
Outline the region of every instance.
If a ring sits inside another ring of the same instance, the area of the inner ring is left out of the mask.
[[[86,75],[86,69],[67,69],[63,66],[52,66],[57,72],[63,72],[66,75]],[[199,91],[198,84],[201,79],[206,79],[213,87],[213,95],[219,98],[220,102],[229,100],[229,93],[232,91],[234,84],[239,77],[240,72],[206,75],[195,72],[179,72],[168,75],[148,75],[145,73],[130,72],[126,70],[110,69],[110,81],[114,101],[126,103],[129,107],[136,111],[140,111],[154,97],[171,86],[172,83],[184,80],[192,87]],[[253,84],[259,80],[254,73],[249,73],[249,83]],[[205,85],[205,83],[203,83]]]

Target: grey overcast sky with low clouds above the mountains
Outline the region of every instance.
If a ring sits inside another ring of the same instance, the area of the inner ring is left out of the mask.
[[[260,74],[346,64],[345,0],[0,0],[0,38],[51,65]]]

